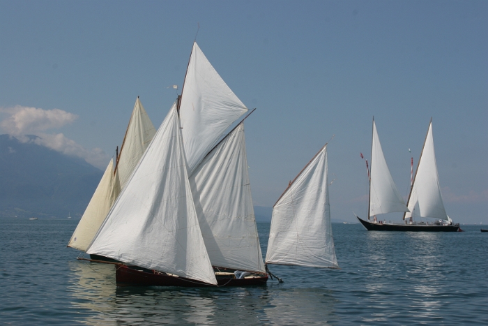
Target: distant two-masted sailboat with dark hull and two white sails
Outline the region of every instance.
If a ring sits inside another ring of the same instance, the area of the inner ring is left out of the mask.
[[[376,215],[391,212],[404,212],[403,223],[376,221]],[[399,195],[390,175],[390,170],[388,170],[388,165],[386,165],[373,119],[368,220],[371,216],[374,216],[372,222],[356,216],[369,231],[455,232],[460,230],[459,224],[453,225],[449,216],[445,214],[434,153],[432,119],[427,130],[422,154],[420,154],[407,205]],[[415,222],[413,216],[436,218],[436,221],[432,223]],[[443,220],[448,221],[448,223],[444,223]]]

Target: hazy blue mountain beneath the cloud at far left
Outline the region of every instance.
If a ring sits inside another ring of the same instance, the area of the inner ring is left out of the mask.
[[[102,174],[82,158],[0,135],[0,216],[81,217]]]

